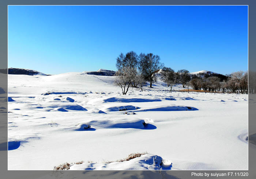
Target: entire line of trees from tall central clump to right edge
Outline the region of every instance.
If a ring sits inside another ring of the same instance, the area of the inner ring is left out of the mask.
[[[182,69],[175,72],[170,67],[165,67],[160,62],[160,57],[152,53],[136,54],[134,51],[121,53],[116,59],[117,72],[115,74],[115,85],[121,87],[122,93],[127,94],[129,87],[142,87],[148,81],[150,87],[157,81],[156,73],[161,74],[161,78],[170,87],[182,84],[188,89],[203,90],[204,92],[222,93],[242,93],[248,94],[248,72],[237,71],[229,75],[221,74],[199,74],[191,75],[188,70]],[[203,77],[202,77],[203,76]],[[255,73],[256,81],[256,73]],[[256,93],[256,86],[253,88]]]

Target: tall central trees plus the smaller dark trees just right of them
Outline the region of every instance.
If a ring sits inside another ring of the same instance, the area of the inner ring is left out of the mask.
[[[134,51],[121,53],[116,59],[117,72],[115,74],[115,85],[121,87],[122,93],[127,94],[129,87],[140,87],[145,85],[146,81],[152,87],[153,82],[157,81],[155,73],[162,69],[161,75],[168,86],[176,83],[182,83],[183,87],[189,82],[190,75],[188,70],[179,70],[176,73],[173,69],[163,66],[160,57],[152,53],[136,54]]]

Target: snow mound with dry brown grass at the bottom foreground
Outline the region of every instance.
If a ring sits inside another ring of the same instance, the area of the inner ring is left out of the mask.
[[[163,165],[162,157],[145,154],[123,162],[71,164],[69,170],[170,170],[170,165]]]

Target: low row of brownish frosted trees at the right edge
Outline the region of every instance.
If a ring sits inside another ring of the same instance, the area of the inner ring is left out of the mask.
[[[237,71],[226,75],[226,79],[216,76],[208,78],[193,77],[187,84],[194,90],[205,92],[242,93],[248,94],[248,72]]]

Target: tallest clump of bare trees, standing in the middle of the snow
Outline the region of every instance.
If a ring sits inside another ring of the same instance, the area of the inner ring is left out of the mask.
[[[162,66],[160,57],[152,53],[140,53],[139,55],[134,51],[125,55],[121,53],[116,59],[115,84],[121,87],[123,94],[127,94],[130,86],[140,87],[142,90],[146,81],[149,81],[150,87],[152,87],[156,80],[154,74]]]

